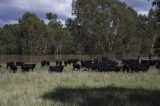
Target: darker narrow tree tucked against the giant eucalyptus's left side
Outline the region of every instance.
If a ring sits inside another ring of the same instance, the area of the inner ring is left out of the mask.
[[[70,33],[70,53],[83,54],[85,53],[84,46],[87,42],[85,38],[85,30],[82,26],[78,25],[76,19],[68,18],[65,22],[66,29]]]

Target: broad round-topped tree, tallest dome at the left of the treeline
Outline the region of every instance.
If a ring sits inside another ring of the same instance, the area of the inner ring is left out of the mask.
[[[22,51],[26,54],[43,54],[46,50],[46,25],[36,14],[26,12],[19,19],[21,28]]]

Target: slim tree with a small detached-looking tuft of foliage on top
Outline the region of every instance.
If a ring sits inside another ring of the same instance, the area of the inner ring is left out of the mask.
[[[47,13],[48,23],[48,41],[50,43],[51,52],[55,52],[57,59],[61,59],[61,54],[64,53],[70,41],[70,34],[68,30],[63,27],[62,23],[58,21],[58,16],[54,13]]]

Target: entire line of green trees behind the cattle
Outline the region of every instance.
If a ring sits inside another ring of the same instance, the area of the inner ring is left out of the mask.
[[[65,27],[47,13],[46,25],[26,12],[18,24],[0,29],[1,54],[148,54],[160,34],[156,11],[138,15],[117,0],[73,0],[74,19]]]

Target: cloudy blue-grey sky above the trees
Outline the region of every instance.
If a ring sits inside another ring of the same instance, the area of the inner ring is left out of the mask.
[[[121,0],[132,7],[139,14],[148,14],[151,3],[148,0]],[[71,18],[72,0],[0,0],[0,27],[5,24],[18,23],[18,19],[26,11],[34,12],[45,23],[48,22],[45,14],[53,12],[64,24],[67,18]]]

